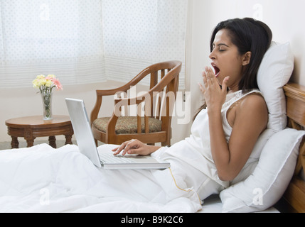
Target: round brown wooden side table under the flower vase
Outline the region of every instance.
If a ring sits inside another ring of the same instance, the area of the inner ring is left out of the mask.
[[[18,137],[25,138],[28,148],[37,137],[48,137],[50,146],[56,148],[55,135],[65,135],[65,144],[72,144],[74,132],[69,116],[55,115],[48,121],[43,116],[26,116],[7,120],[5,124],[11,135],[11,148],[19,148]]]

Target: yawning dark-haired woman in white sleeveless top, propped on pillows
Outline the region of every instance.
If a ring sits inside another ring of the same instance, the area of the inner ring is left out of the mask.
[[[199,192],[201,199],[228,187],[267,127],[268,110],[257,90],[257,71],[271,40],[270,29],[252,18],[219,23],[210,40],[215,72],[205,67],[203,85],[199,84],[207,108],[196,116],[190,138],[162,150],[130,140],[114,148],[114,155],[122,150],[123,155],[154,155],[158,150],[161,158],[178,157],[202,172],[202,178],[212,180],[210,192],[204,188]]]

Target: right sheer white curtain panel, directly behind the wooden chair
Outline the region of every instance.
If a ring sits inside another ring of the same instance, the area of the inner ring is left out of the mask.
[[[103,0],[107,77],[127,82],[156,62],[181,60],[183,89],[187,9],[187,0]]]

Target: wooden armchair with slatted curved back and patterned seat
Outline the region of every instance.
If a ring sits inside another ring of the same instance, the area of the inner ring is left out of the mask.
[[[127,140],[138,139],[151,145],[154,143],[171,145],[171,116],[176,101],[181,65],[179,61],[157,63],[141,71],[122,87],[97,90],[97,101],[90,116],[95,142],[100,140],[108,144],[121,144]],[[112,116],[98,118],[103,96],[115,94],[126,96],[127,91],[144,77],[150,77],[148,92],[132,98],[114,97]],[[122,114],[122,111],[131,108],[136,108],[136,116],[129,116],[130,113],[127,116]]]

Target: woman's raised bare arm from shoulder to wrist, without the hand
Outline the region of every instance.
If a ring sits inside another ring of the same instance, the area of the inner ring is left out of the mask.
[[[259,135],[267,126],[267,106],[262,96],[249,95],[235,109],[229,143],[225,140],[220,114],[210,113],[210,147],[218,176],[234,179],[249,159]]]

